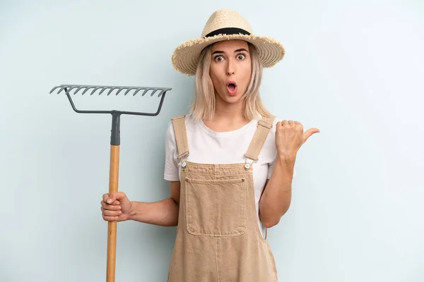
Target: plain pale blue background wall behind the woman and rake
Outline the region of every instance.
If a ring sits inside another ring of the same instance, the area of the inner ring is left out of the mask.
[[[200,3],[1,1],[0,281],[105,281],[111,118],[76,114],[49,90],[172,87],[160,116],[122,116],[119,172],[130,200],[169,197],[165,130],[194,89],[170,56],[218,8],[284,44],[264,71],[264,102],[321,130],[269,230],[280,281],[424,281],[423,1]],[[81,109],[156,105],[77,96]],[[175,228],[124,222],[117,238],[116,281],[165,281]]]

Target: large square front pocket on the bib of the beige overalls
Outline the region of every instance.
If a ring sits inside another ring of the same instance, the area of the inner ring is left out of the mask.
[[[184,184],[189,233],[225,237],[246,231],[245,178],[185,178]]]

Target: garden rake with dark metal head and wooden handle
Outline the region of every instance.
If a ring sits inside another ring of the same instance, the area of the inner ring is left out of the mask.
[[[125,87],[125,86],[104,86],[104,85],[59,85],[55,86],[50,90],[50,94],[57,90],[57,94],[64,91],[66,96],[69,99],[69,103],[72,106],[73,111],[76,111],[78,114],[111,114],[112,115],[112,129],[110,135],[110,172],[109,172],[109,193],[118,192],[118,177],[119,177],[119,145],[120,145],[120,117],[122,114],[127,115],[136,115],[136,116],[158,116],[160,109],[162,109],[163,100],[165,99],[165,94],[167,91],[172,88],[163,88],[163,87]],[[100,90],[99,95],[101,95],[105,90],[107,96],[109,96],[114,90],[116,95],[123,90],[124,95],[132,93],[135,96],[141,90],[143,93],[141,96],[144,96],[147,92],[151,91],[151,97],[158,92],[158,97],[160,97],[160,102],[157,111],[152,113],[145,112],[136,112],[136,111],[86,111],[78,110],[73,104],[71,98],[71,91],[73,94],[83,90],[82,94],[86,94],[88,90],[90,95],[93,95],[96,91]],[[134,91],[133,91],[134,90]],[[114,282],[115,278],[115,262],[116,262],[116,245],[117,245],[117,221],[108,221],[107,222],[107,266],[106,266],[106,281]]]

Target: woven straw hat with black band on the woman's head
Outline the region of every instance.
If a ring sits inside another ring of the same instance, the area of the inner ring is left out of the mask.
[[[201,38],[189,40],[175,49],[172,65],[181,73],[195,75],[201,51],[210,44],[229,39],[242,39],[257,47],[264,68],[274,66],[285,53],[283,45],[276,40],[253,35],[252,27],[240,14],[220,9],[213,12],[206,22]]]

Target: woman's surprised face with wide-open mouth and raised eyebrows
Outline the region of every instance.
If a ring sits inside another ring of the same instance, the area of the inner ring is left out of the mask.
[[[247,42],[225,40],[211,47],[209,75],[215,88],[216,99],[240,102],[252,75],[252,64]],[[218,102],[218,101],[217,101]]]

